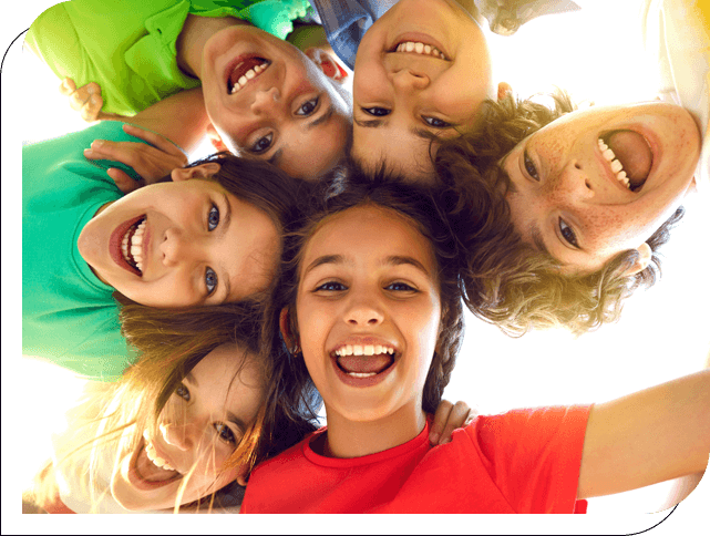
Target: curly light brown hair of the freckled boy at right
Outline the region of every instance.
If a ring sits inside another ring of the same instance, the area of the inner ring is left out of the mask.
[[[636,288],[652,286],[660,276],[658,248],[683,215],[682,207],[647,241],[652,250],[648,267],[625,276],[638,251],[622,251],[590,275],[563,275],[558,262],[523,243],[515,230],[505,193],[507,175],[500,161],[517,143],[575,110],[569,95],[549,95],[554,107],[507,94],[487,101],[485,121],[439,147],[435,165],[441,181],[459,192],[461,229],[466,250],[462,271],[464,301],[479,318],[519,337],[534,328],[565,327],[576,334],[616,321],[622,301]]]

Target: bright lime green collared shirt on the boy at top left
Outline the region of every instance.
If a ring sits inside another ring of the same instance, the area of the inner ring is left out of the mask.
[[[308,12],[308,0],[73,0],[44,10],[24,43],[60,79],[101,85],[104,112],[134,115],[200,85],[176,60],[189,13],[236,17],[285,39]]]

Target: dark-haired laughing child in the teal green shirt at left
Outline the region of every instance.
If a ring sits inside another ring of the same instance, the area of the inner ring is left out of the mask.
[[[22,147],[22,352],[99,380],[117,379],[130,355],[114,291],[171,310],[258,296],[307,186],[222,155],[123,196],[103,171],[120,164],[83,155],[96,137],[134,142],[122,126]]]

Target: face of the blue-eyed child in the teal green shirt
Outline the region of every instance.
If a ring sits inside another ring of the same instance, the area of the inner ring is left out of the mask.
[[[175,182],[110,204],[82,229],[81,256],[104,282],[150,307],[219,305],[263,290],[278,261],[279,230],[266,213],[218,183],[186,179],[218,168],[176,169]],[[126,236],[140,270],[126,261]]]

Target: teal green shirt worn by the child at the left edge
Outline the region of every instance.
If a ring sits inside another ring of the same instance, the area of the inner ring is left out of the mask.
[[[22,147],[22,353],[92,380],[115,381],[135,360],[120,332],[113,288],[91,271],[76,240],[105,203],[122,197],[106,175],[116,162],[88,161],[96,138],[135,142],[123,123]]]

